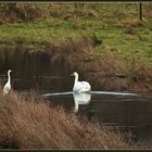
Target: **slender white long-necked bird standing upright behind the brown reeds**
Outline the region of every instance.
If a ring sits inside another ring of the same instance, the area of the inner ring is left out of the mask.
[[[9,91],[11,90],[11,76],[10,76],[11,72],[12,72],[11,69],[8,71],[8,81],[3,87],[3,96],[8,94]]]

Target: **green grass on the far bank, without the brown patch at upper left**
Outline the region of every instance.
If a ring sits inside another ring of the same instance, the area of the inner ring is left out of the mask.
[[[143,11],[145,7],[147,4],[143,4]],[[150,17],[144,15],[143,26],[132,27],[134,35],[125,33],[128,24],[138,22],[137,3],[86,4],[87,9],[96,10],[99,17],[88,16],[84,11],[77,18],[71,17],[67,21],[61,16],[41,22],[1,24],[0,41],[1,43],[43,47],[50,41],[61,42],[69,37],[96,35],[98,39],[102,40],[102,45],[94,48],[98,53],[103,51],[102,49],[106,46],[112,50],[126,53],[141,51],[151,56],[152,20]],[[66,11],[63,12],[65,14]]]

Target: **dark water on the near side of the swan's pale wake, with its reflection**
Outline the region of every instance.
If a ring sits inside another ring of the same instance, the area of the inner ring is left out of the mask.
[[[85,114],[89,121],[98,121],[105,127],[131,132],[135,141],[152,143],[152,99],[140,96],[91,91],[90,93],[46,93],[53,105]]]

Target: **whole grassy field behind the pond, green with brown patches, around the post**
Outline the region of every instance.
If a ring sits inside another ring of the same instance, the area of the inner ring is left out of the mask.
[[[109,47],[115,51],[139,51],[151,56],[151,3],[142,4],[143,22],[139,21],[139,3],[12,5],[0,5],[1,43],[42,47],[50,41],[87,36],[101,41],[94,52]]]

